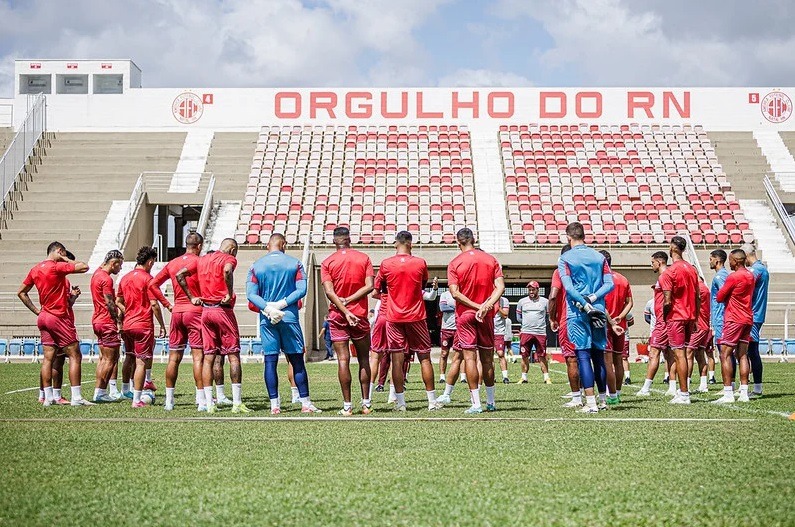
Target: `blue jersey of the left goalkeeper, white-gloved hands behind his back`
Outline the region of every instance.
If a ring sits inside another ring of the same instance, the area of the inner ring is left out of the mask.
[[[268,302],[285,300],[284,322],[297,323],[299,301],[306,296],[306,272],[297,258],[272,251],[254,262],[248,270],[246,297],[262,311]],[[260,323],[265,315],[260,313]]]

